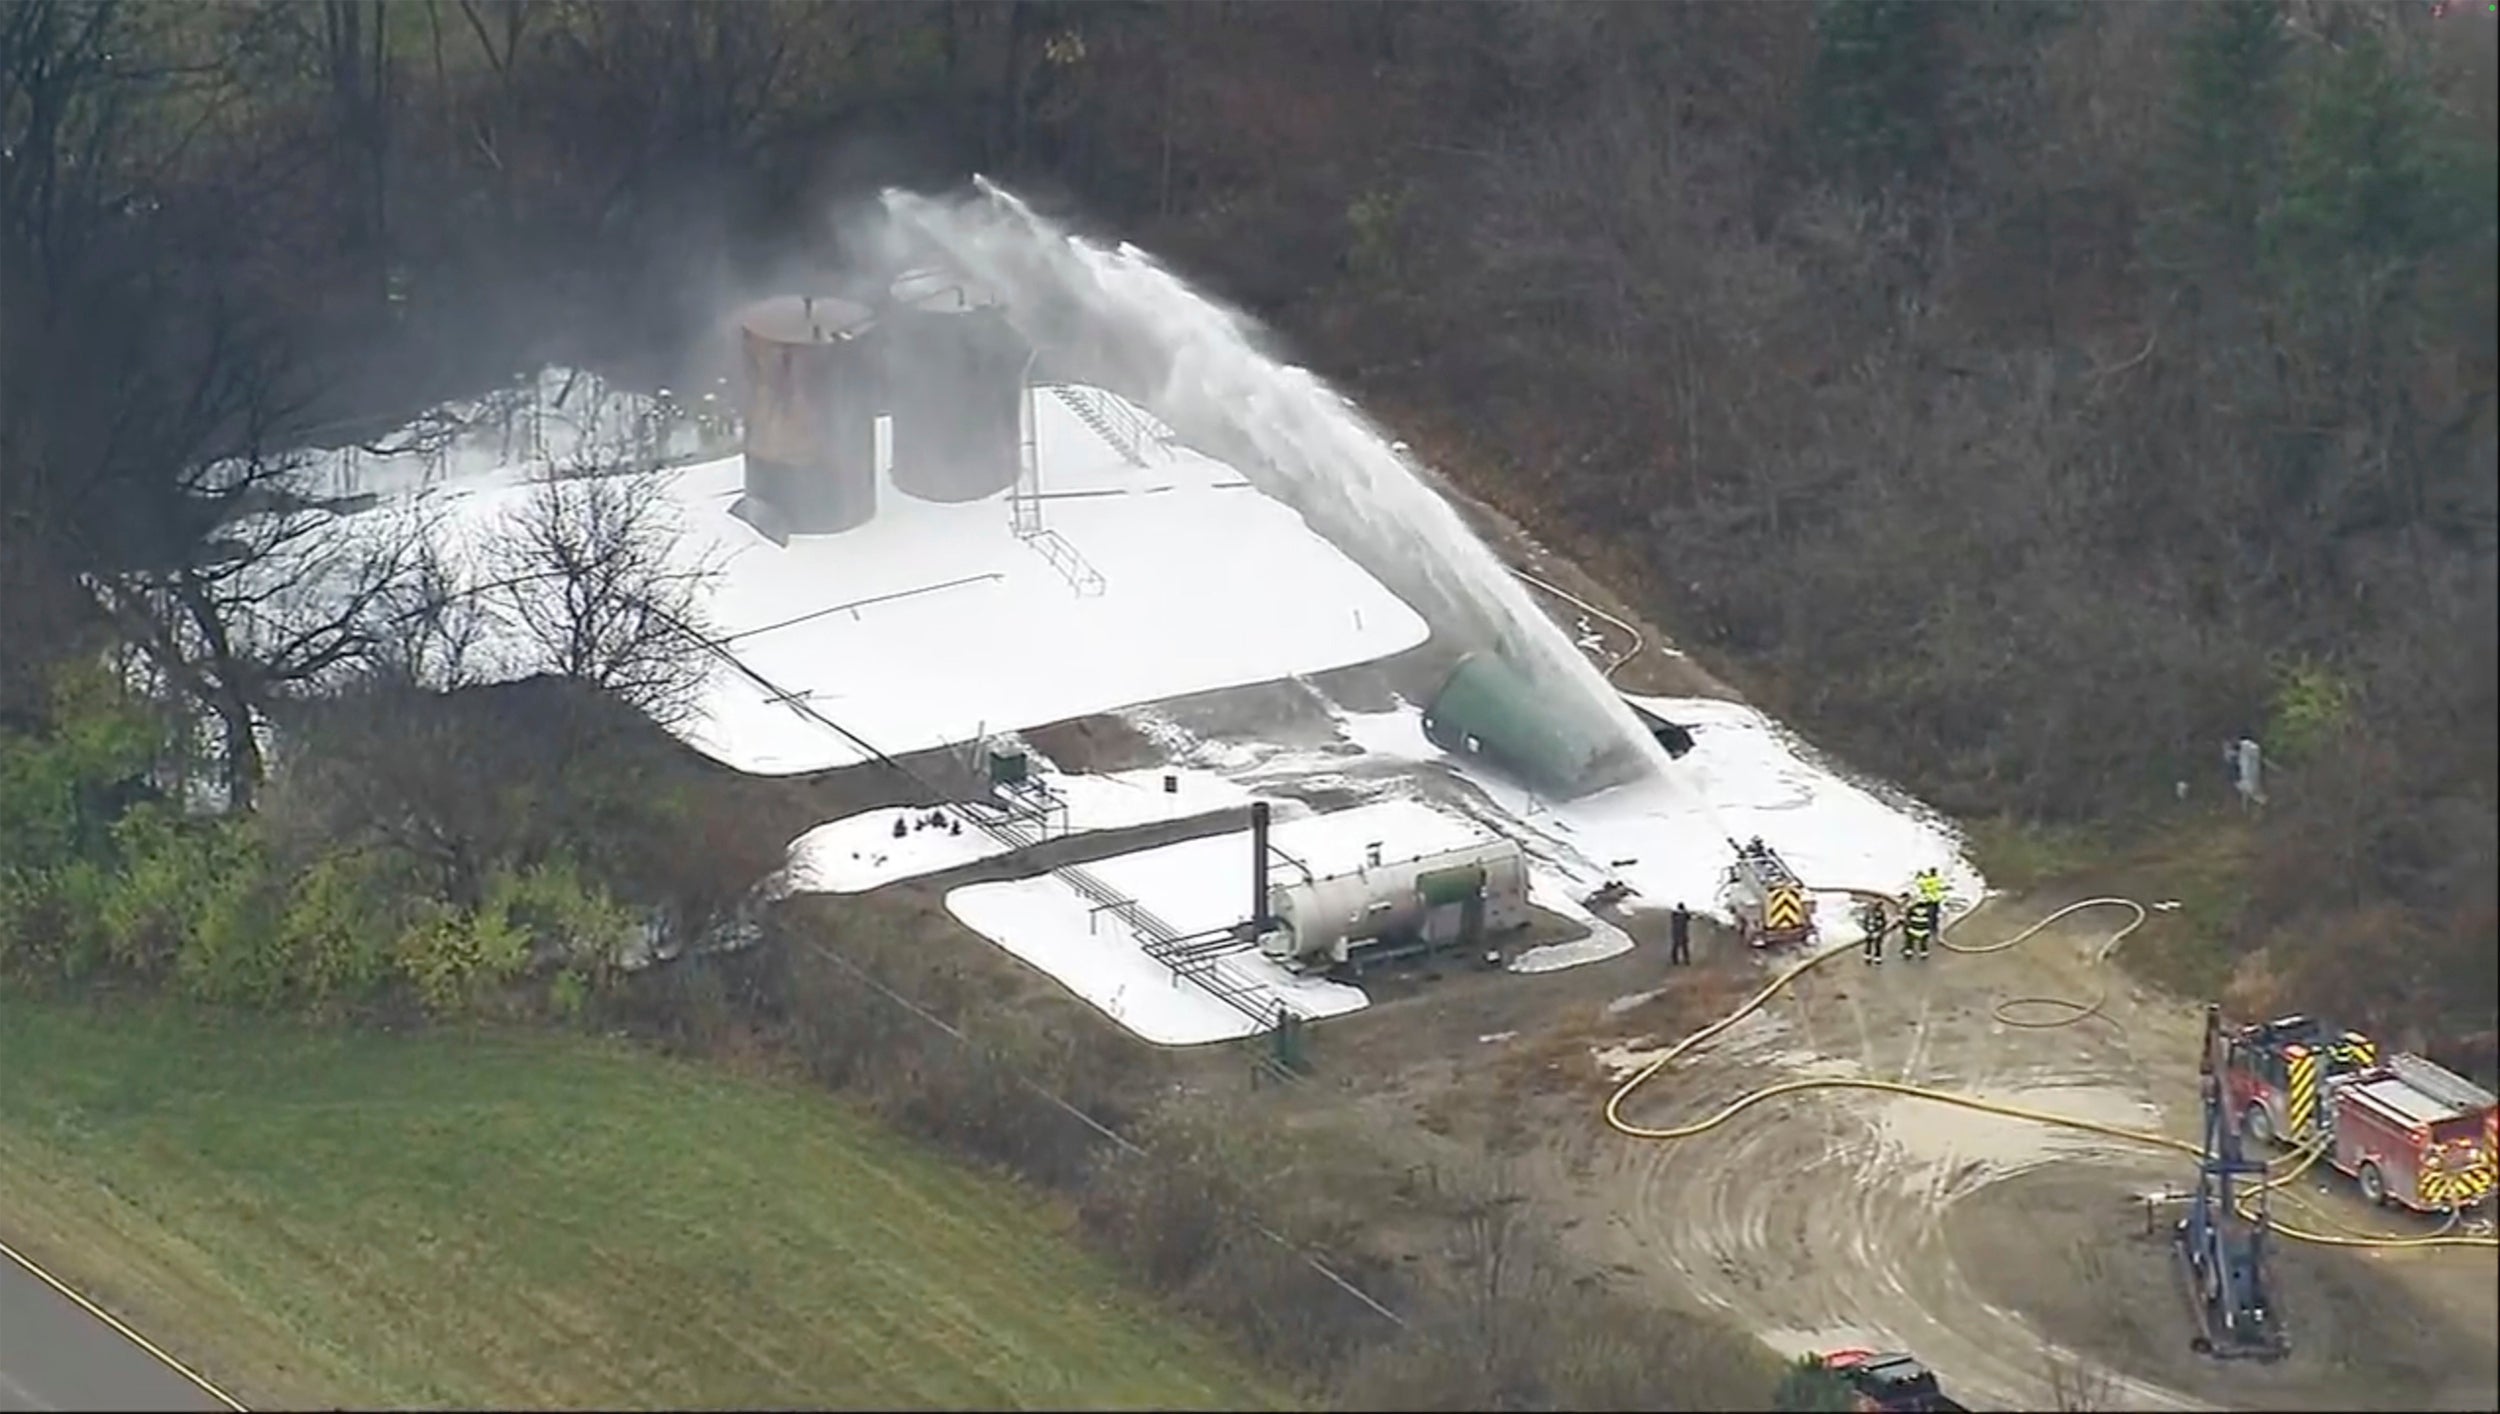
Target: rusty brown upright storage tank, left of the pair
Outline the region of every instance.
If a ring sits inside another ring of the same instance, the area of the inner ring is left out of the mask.
[[[832,535],[878,515],[875,317],[825,295],[738,312],[748,495],[792,532]]]

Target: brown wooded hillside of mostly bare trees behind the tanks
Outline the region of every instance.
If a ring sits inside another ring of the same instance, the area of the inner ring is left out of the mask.
[[[205,455],[668,377],[980,170],[1950,812],[2142,829],[2258,734],[2242,984],[2488,1047],[2492,95],[2470,5],[28,0],[0,712]]]

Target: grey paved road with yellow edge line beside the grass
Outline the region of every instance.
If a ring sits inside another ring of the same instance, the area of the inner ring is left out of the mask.
[[[0,1409],[225,1407],[0,1252]]]

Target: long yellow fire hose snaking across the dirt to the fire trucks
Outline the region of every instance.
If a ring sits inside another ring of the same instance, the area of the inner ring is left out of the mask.
[[[1882,894],[1870,894],[1870,892],[1862,892],[1862,889],[1835,889],[1835,892],[1850,892],[1855,897],[1882,897]],[[1960,952],[1960,954],[2005,952],[2005,949],[2010,949],[2015,944],[2028,942],[2030,937],[2035,937],[2040,929],[2050,927],[2052,922],[2058,922],[2058,919],[2062,919],[2062,917],[2068,917],[2072,912],[2082,912],[2082,909],[2092,909],[2092,907],[2120,907],[2120,909],[2128,909],[2132,914],[2125,922],[2125,927],[2120,927],[2118,932],[2112,932],[2110,939],[2102,942],[2100,949],[2092,954],[2095,962],[2108,962],[2108,957],[2112,952],[2118,952],[2118,944],[2125,942],[2128,934],[2132,934],[2138,927],[2145,924],[2145,907],[2138,904],[2135,899],[2115,899],[2115,897],[2108,897],[2108,899],[2080,899],[2080,902],[2065,904],[2062,909],[2048,914],[2045,919],[2030,924],[2028,929],[2022,929],[2022,932],[2018,932],[2018,934],[2012,934],[2012,937],[2008,937],[2002,942],[1990,942],[1990,944],[1978,944],[1978,947],[1952,944],[1952,942],[1945,942],[1942,937],[1938,937],[1938,942],[1948,952]],[[1952,922],[1962,922],[1968,917],[1970,917],[1970,912],[1962,912]],[[2202,1157],[2202,1147],[2200,1144],[2190,1144],[2190,1142],[2175,1139],[2170,1134],[2155,1134],[2150,1129],[2128,1129],[2128,1127],[2120,1127],[2120,1124],[2102,1124],[2098,1119],[2082,1119],[2082,1117],[2075,1117],[2075,1114],[2052,1114],[2048,1109],[2030,1109],[2025,1104],[2005,1104],[2005,1102],[1998,1102],[1998,1099],[1978,1099],[1978,1097],[1970,1097],[1970,1094],[1955,1094],[1950,1089],[1930,1089],[1925,1084],[1905,1084],[1905,1082],[1895,1082],[1895,1079],[1790,1079],[1790,1082],[1768,1084],[1762,1089],[1755,1089],[1755,1092],[1750,1092],[1750,1094],[1730,1102],[1718,1114],[1710,1114],[1705,1119],[1695,1119],[1690,1124],[1650,1127],[1650,1124],[1632,1124],[1630,1119],[1622,1117],[1622,1104],[1632,1097],[1632,1092],[1640,1089],[1642,1084],[1648,1084],[1650,1079],[1655,1079],[1670,1064],[1675,1064],[1685,1052],[1690,1052],[1690,1049],[1710,1042],[1712,1037],[1718,1037],[1728,1027],[1732,1027],[1732,1024],[1742,1022],[1745,1017],[1755,1014],[1758,1009],[1762,1009],[1762,1004],[1768,1004],[1772,997],[1778,997],[1780,992],[1785,992],[1798,977],[1805,977],[1815,967],[1822,967],[1825,962],[1830,962],[1830,959],[1835,959],[1835,957],[1840,957],[1845,952],[1855,952],[1855,949],[1858,949],[1855,942],[1845,942],[1845,944],[1828,947],[1828,949],[1822,949],[1822,952],[1818,952],[1812,957],[1805,957],[1802,962],[1792,964],[1788,972],[1780,972],[1778,977],[1772,977],[1770,984],[1765,984],[1760,992],[1755,992],[1752,997],[1748,997],[1745,1004],[1740,1004],[1735,1012],[1728,1012],[1718,1022],[1710,1022],[1708,1027],[1702,1027],[1702,1029],[1692,1032],[1690,1037],[1685,1037],[1685,1039],[1675,1042],[1672,1047],[1668,1047],[1662,1054],[1658,1054],[1658,1059],[1642,1064],[1638,1072],[1632,1072],[1630,1079],[1625,1079],[1622,1084],[1615,1087],[1615,1094],[1608,1097],[1608,1102],[1605,1102],[1605,1122],[1618,1134],[1622,1134],[1628,1139],[1690,1139],[1695,1134],[1708,1134],[1710,1129],[1718,1129],[1720,1124],[1735,1119],[1738,1114],[1752,1109],[1755,1104],[1762,1104],[1768,1099],[1778,1099],[1782,1094],[1805,1094],[1810,1089],[1870,1089],[1870,1092],[1878,1092],[1878,1094],[1905,1094],[1910,1099],[1932,1099],[1935,1104],[1955,1104],[1955,1107],[1962,1107],[1962,1109],[1975,1109],[1980,1114],[2002,1114],[2008,1119],[2030,1119],[2032,1124],[2052,1124],[2052,1127],[2060,1127],[2060,1129],[2082,1129],[2088,1134],[2102,1134],[2108,1139],[2122,1139],[2122,1142],[2130,1142],[2130,1144],[2148,1144],[2148,1147],[2155,1147],[2155,1149],[2172,1149],[2172,1152],[2180,1152],[2180,1154]],[[2015,1027],[2032,1027],[2032,1029],[2070,1027],[2075,1022],[2082,1022],[2085,1017],[2100,1014],[2100,1009],[2102,1009],[2102,1004],[2108,1004],[2108,999],[2110,999],[2110,987],[2108,987],[2108,977],[2102,977],[2100,997],[2095,1002],[2090,1002],[2090,1004],[2068,1002],[2062,997],[2010,997],[2005,1002],[1998,1002],[1995,1014],[1998,1014],[2000,1022],[2015,1024]],[[2048,1022],[2018,1022],[2018,1019],[2005,1017],[2008,1007],[2062,1007],[2070,1014],[2055,1017],[2055,1019],[2048,1019]],[[2302,1172],[2308,1172],[2310,1164],[2318,1162],[2320,1152],[2322,1152],[2320,1147],[2310,1147],[2310,1149],[2302,1149],[2298,1154],[2285,1154],[2282,1159],[2272,1159],[2272,1164],[2290,1164],[2290,1167],[2282,1174],[2270,1177],[2262,1184],[2258,1184],[2258,1189],[2280,1189],[2280,1187],[2290,1184]],[[2250,1212],[2245,1207],[2245,1202],[2248,1199],[2242,1199],[2240,1217],[2248,1219],[2248,1222],[2260,1222],[2260,1217],[2255,1212]],[[2458,1224],[2458,1214],[2455,1212],[2448,1214],[2448,1227],[2442,1227],[2435,1234],[2418,1234],[2418,1237],[2405,1237],[2405,1234],[2352,1234],[2350,1229],[2345,1229],[2345,1234],[2310,1232],[2305,1227],[2292,1227],[2292,1224],[2288,1224],[2288,1222],[2282,1222],[2282,1219],[2278,1219],[2272,1214],[2268,1214],[2262,1222],[2272,1232],[2278,1232],[2282,1237],[2290,1237],[2295,1242],[2312,1242],[2312,1244],[2320,1244],[2320,1247],[2380,1247],[2380,1249],[2392,1249],[2392,1247],[2482,1247],[2482,1249],[2492,1249],[2492,1247],[2500,1247],[2500,1237],[2455,1234],[2452,1232],[2455,1224]],[[2338,1227],[2342,1227],[2342,1224],[2338,1224]]]

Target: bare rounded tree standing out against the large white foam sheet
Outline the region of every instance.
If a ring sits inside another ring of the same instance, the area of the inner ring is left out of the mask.
[[[712,670],[702,587],[715,567],[678,552],[652,475],[575,472],[540,482],[508,520],[492,602],[518,630],[522,667],[682,722]]]

